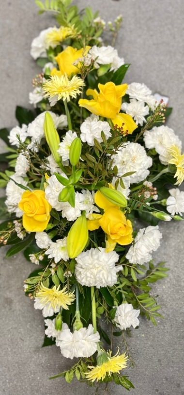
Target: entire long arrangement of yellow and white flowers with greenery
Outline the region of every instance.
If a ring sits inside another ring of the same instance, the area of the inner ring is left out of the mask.
[[[167,101],[144,84],[122,84],[129,64],[114,49],[122,16],[106,27],[72,0],[35,2],[59,27],[31,43],[42,67],[29,97],[34,112],[17,107],[19,126],[0,130],[8,151],[0,155],[0,243],[11,246],[7,258],[24,250],[39,265],[24,291],[45,317],[44,346],[78,358],[55,377],[129,390],[127,336],[139,315],[153,325],[163,318],[150,291],[168,269],[152,253],[159,221],[183,220],[181,141],[164,124]]]

